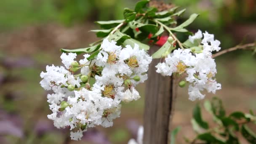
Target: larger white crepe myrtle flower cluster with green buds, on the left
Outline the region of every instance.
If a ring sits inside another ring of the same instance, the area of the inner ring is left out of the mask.
[[[88,61],[90,55],[85,54],[78,63],[76,56],[63,53],[65,67],[47,66],[40,75],[41,86],[54,92],[47,96],[53,112],[48,118],[57,128],[70,127],[73,140],[81,139],[86,128],[112,126],[120,116],[120,102],[140,98],[135,86],[147,80],[152,61],[138,45],[122,48],[107,39],[94,59]]]

